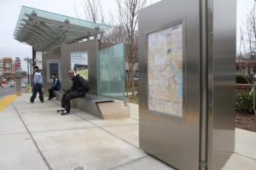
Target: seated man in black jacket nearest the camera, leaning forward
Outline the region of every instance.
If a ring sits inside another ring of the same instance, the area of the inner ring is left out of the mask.
[[[84,97],[85,94],[89,91],[88,82],[79,75],[76,75],[75,71],[68,72],[69,78],[73,81],[72,88],[65,90],[66,94],[63,94],[61,99],[61,111],[62,116],[66,116],[70,112],[70,99],[75,99],[79,97]]]

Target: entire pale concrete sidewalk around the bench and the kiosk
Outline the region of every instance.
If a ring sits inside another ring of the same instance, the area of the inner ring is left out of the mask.
[[[172,170],[140,150],[137,105],[131,118],[102,120],[74,109],[61,116],[60,102],[30,104],[29,97],[0,112],[1,170]],[[236,151],[223,169],[256,169],[256,133],[236,129]]]

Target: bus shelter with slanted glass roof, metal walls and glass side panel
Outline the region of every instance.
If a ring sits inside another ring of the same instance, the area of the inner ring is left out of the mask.
[[[23,6],[14,37],[19,42],[32,46],[32,54],[37,54],[38,51],[43,53],[42,68],[38,62],[40,56],[33,57],[33,63],[42,69],[44,95],[47,95],[52,84],[52,73],[61,80],[61,88],[70,88],[72,82],[68,71],[74,70],[89,81],[89,94],[96,95],[75,101],[75,105],[88,110],[89,106],[84,105],[87,102],[92,108],[92,103],[96,110],[88,112],[95,113],[100,108],[97,102],[125,100],[125,45],[120,43],[99,50],[97,37],[109,28],[106,25]],[[101,114],[96,116],[102,116]]]

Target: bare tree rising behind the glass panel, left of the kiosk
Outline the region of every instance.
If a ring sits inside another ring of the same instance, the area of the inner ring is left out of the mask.
[[[138,12],[145,5],[147,0],[115,0],[118,6],[119,26],[124,28],[127,37],[125,43],[128,44],[128,82],[131,82],[132,95],[135,92],[134,80],[135,69],[134,65],[137,62],[137,20]]]

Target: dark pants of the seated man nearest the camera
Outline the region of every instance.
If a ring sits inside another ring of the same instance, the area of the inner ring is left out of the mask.
[[[67,113],[69,113],[70,112],[70,99],[81,98],[84,96],[85,96],[84,92],[78,92],[78,91],[72,91],[72,92],[63,94],[62,99],[61,99],[61,107],[65,108]]]

